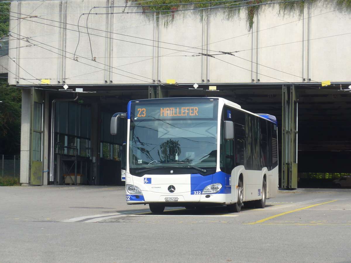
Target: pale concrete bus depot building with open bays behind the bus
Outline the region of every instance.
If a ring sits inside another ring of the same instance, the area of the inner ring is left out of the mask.
[[[7,62],[10,85],[23,89],[22,184],[121,184],[112,114],[131,99],[175,96],[220,96],[276,115],[282,187],[296,188],[298,173],[351,172],[350,8],[152,8],[12,2]]]

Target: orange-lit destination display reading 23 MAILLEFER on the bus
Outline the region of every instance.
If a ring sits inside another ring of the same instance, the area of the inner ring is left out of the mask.
[[[213,118],[213,102],[133,103],[134,119]]]

